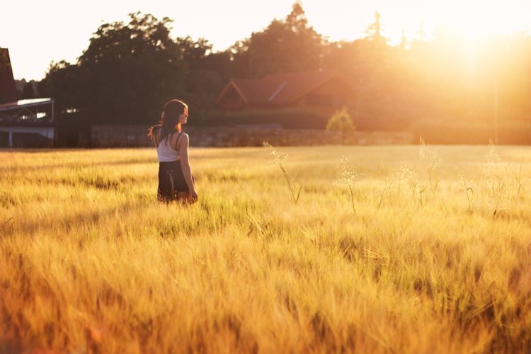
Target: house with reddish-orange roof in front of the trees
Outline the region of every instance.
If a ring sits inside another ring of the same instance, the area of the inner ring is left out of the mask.
[[[231,79],[216,103],[224,113],[301,110],[329,117],[354,100],[349,79],[338,72],[317,70]]]

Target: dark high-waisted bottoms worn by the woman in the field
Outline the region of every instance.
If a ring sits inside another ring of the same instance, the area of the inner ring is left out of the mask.
[[[193,176],[192,176],[193,181]],[[177,199],[177,192],[188,192],[181,161],[159,162],[159,189],[156,197],[168,202]]]

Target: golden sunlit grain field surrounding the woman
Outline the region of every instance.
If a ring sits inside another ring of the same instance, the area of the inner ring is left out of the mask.
[[[531,148],[271,152],[0,152],[0,352],[531,350]]]

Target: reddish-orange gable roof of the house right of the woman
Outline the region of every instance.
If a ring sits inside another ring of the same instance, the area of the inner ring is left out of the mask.
[[[330,70],[271,74],[261,79],[231,79],[216,103],[233,87],[247,104],[282,105],[297,100],[334,78],[343,79],[337,72]],[[346,83],[349,84],[348,81]]]

